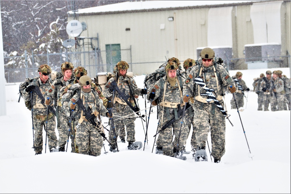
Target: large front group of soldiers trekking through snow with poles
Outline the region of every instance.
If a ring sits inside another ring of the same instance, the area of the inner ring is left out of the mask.
[[[126,118],[139,111],[135,100],[145,95],[151,106],[158,107],[156,150],[162,150],[167,156],[182,154],[192,125],[193,158],[207,161],[205,147],[210,132],[211,156],[219,163],[225,153],[227,115],[223,97],[227,91],[237,93],[234,80],[219,60],[208,47],[201,51],[197,61],[186,59],[184,71],[177,58],[170,58],[164,65],[166,76],[156,81],[149,91],[139,88],[134,78],[127,75],[129,65],[126,61],[117,63],[103,90],[97,79],[87,76],[84,67],[74,69],[72,63],[65,62],[61,65],[62,76],[52,81],[49,65],[40,65],[39,76],[31,79],[21,91],[25,101],[31,100],[36,155],[42,153],[43,128],[50,152],[57,147],[64,152],[69,137],[72,152],[80,154],[99,156],[105,140],[111,152],[118,151],[118,136],[123,143],[126,136],[130,149],[135,142],[135,119]],[[35,87],[39,88],[42,97],[38,97],[40,94],[35,92]],[[56,110],[56,116],[51,107]],[[104,134],[102,117],[109,120],[109,140]],[[200,155],[197,156],[198,150]]]

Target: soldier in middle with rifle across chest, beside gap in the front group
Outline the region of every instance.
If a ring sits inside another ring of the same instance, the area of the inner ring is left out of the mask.
[[[129,65],[126,61],[121,60],[117,64],[117,72],[114,77],[111,77],[107,83],[105,84],[104,88],[104,96],[114,97],[112,99],[113,101],[113,107],[112,113],[113,113],[113,120],[120,118],[120,116],[132,114],[134,111],[133,108],[136,107],[135,99],[138,98],[138,96],[145,95],[147,93],[146,89],[141,89],[136,85],[136,82],[133,77],[127,76],[126,72],[129,68]],[[113,83],[113,84],[112,84]],[[121,92],[123,92],[124,95],[118,93],[115,89],[115,87],[118,87]],[[126,97],[129,97],[128,99],[123,99]],[[132,107],[128,104],[131,103]],[[110,146],[110,151],[114,152],[116,149],[115,144],[115,138],[120,135],[120,126],[123,127],[125,125],[126,127],[126,135],[127,135],[127,142],[128,142],[128,149],[131,148],[131,146],[135,142],[135,124],[134,121],[136,118],[131,119],[122,119],[122,120],[116,120],[114,121],[114,127],[115,127],[115,137],[113,136],[113,131],[111,131],[110,141],[112,142]],[[112,127],[111,127],[112,130]],[[125,137],[120,136],[121,140],[125,140]]]

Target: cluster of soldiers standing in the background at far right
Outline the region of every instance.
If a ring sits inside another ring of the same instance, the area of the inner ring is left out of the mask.
[[[253,91],[258,95],[258,111],[291,110],[290,79],[281,70],[266,71],[254,78]],[[272,76],[273,74],[273,76]]]

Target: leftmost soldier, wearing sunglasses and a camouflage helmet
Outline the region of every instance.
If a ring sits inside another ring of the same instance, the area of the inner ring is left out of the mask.
[[[42,99],[36,95],[34,88],[38,87],[42,93],[42,98],[45,98],[46,92],[49,90],[52,80],[49,78],[49,74],[52,72],[51,67],[47,64],[42,64],[38,67],[39,77],[34,77],[27,86],[26,90],[23,91],[23,96],[31,98],[33,106],[32,118],[33,118],[33,129],[34,129],[34,151],[35,154],[42,154],[42,131],[46,129],[49,151],[52,152],[56,149],[58,139],[56,136],[56,116],[49,111],[47,114],[47,105],[43,104]],[[52,99],[53,100],[53,99]],[[46,122],[47,121],[47,122]]]

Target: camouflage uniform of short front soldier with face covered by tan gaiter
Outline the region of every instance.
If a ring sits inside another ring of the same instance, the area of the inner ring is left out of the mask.
[[[70,115],[71,109],[70,104],[76,102],[77,99],[81,99],[81,102],[85,106],[86,110],[88,108],[91,109],[90,113],[95,114],[94,121],[97,124],[97,128],[101,130],[101,124],[97,120],[97,115],[107,116],[107,109],[103,105],[102,100],[99,98],[98,93],[94,90],[87,93],[83,90],[77,90],[74,96],[70,99],[65,108],[66,114]],[[94,127],[91,122],[85,119],[85,115],[81,115],[83,111],[76,104],[76,108],[73,111],[73,117],[75,118],[75,127],[76,129],[76,145],[79,149],[79,154],[91,155],[91,156],[99,156],[101,154],[101,149],[103,147],[103,138],[101,134],[97,131],[96,127]]]

